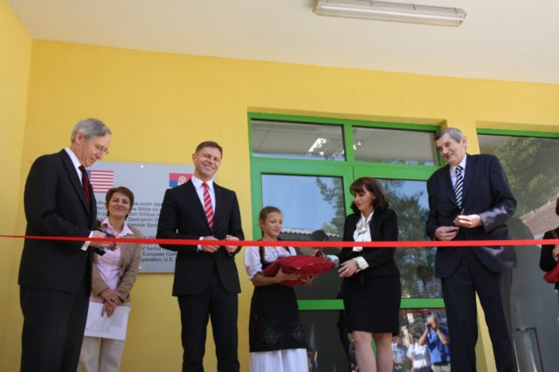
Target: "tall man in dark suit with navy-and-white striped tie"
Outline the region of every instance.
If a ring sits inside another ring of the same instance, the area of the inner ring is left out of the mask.
[[[508,239],[506,221],[517,201],[499,160],[466,154],[467,139],[448,128],[435,136],[448,165],[427,181],[430,238],[440,241]],[[467,244],[467,243],[465,243]],[[511,247],[437,248],[435,275],[441,278],[453,371],[475,371],[476,293],[484,309],[498,371],[516,370],[510,335]]]

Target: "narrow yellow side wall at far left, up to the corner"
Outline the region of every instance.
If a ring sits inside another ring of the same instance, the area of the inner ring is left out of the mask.
[[[6,1],[0,0],[0,234],[21,233],[20,179],[27,86],[31,63],[31,37]],[[18,352],[18,338],[7,333],[18,314],[17,264],[21,244],[0,238],[0,370],[4,355]]]

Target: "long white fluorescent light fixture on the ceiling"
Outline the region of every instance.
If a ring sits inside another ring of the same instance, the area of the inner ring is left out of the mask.
[[[459,8],[387,3],[369,0],[316,0],[313,10],[321,16],[366,18],[377,21],[454,26],[462,24],[466,12]]]

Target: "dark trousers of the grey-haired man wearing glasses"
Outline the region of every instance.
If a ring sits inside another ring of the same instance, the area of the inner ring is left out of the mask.
[[[90,291],[85,275],[73,292],[20,286],[21,371],[75,372]]]

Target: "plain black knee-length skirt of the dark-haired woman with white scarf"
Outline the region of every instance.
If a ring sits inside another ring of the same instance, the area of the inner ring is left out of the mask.
[[[364,276],[344,279],[342,284],[348,329],[375,333],[400,333],[400,276]]]

